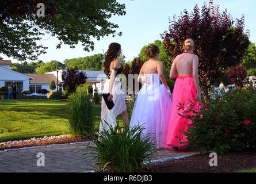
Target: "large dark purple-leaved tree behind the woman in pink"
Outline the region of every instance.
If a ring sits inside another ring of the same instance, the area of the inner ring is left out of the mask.
[[[199,57],[200,87],[205,97],[222,71],[242,61],[249,45],[249,31],[243,32],[244,16],[236,19],[233,26],[227,10],[220,13],[219,6],[212,5],[212,1],[208,6],[204,3],[201,14],[197,5],[190,14],[184,10],[178,20],[175,16],[170,19],[169,31],[161,34],[170,61],[182,53],[184,40],[194,40],[194,54]]]

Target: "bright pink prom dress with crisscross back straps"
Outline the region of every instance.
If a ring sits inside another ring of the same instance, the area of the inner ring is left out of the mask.
[[[184,58],[184,55],[182,55],[181,58]],[[181,58],[179,58],[179,60]],[[186,63],[188,62],[186,61]],[[175,68],[177,68],[176,64]],[[192,66],[190,66],[190,68],[192,69]],[[194,110],[198,108],[199,102],[195,99],[196,94],[197,89],[196,85],[194,84],[193,75],[178,75],[174,85],[173,97],[171,99],[171,109],[169,111],[170,119],[169,121],[165,121],[165,124],[163,125],[161,148],[172,149],[173,147],[181,148],[187,147],[189,145],[189,143],[180,144],[180,142],[187,141],[186,136],[180,131],[187,131],[188,125],[186,124],[191,124],[191,120],[188,120],[182,116],[185,116],[186,114],[193,115],[193,112],[183,113],[184,111],[190,109],[190,101],[192,101],[195,104]],[[184,110],[178,110],[179,102],[181,104],[184,104]],[[179,116],[178,113],[182,114],[182,116]],[[181,139],[181,141],[179,141],[179,139]]]

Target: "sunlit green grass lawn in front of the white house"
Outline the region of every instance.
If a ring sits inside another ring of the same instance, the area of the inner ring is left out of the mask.
[[[49,99],[0,100],[0,142],[68,134],[66,104]],[[100,127],[101,105],[93,106],[93,117]],[[123,124],[120,115],[117,121]]]

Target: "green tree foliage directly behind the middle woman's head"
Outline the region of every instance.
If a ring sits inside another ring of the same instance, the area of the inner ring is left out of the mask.
[[[160,40],[155,40],[154,43],[151,43],[151,44],[148,44],[148,45],[144,45],[142,47],[142,49],[140,50],[140,53],[139,53],[139,57],[144,61],[146,62],[148,59],[150,59],[147,54],[146,54],[146,49],[148,46],[151,46],[151,45],[156,45],[158,46],[159,48],[159,57],[158,57],[158,60],[161,61],[163,63],[163,67],[164,68],[170,68],[170,63],[168,62],[168,55],[167,55],[167,50],[165,48],[165,45],[163,42],[161,42]]]

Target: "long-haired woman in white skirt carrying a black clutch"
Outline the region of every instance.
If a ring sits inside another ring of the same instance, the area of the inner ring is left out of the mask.
[[[122,70],[122,68],[120,68],[120,60],[117,59],[120,54],[121,45],[118,43],[112,43],[109,45],[109,49],[105,55],[104,72],[107,75],[107,79],[104,84],[103,94],[110,94],[108,100],[113,101],[114,106],[109,110],[104,98],[102,97],[100,132],[103,129],[106,131],[109,129],[105,121],[114,128],[116,125],[116,117],[119,114],[121,114],[123,118],[124,127],[128,125],[127,107],[125,105],[125,98],[121,89],[120,78],[118,76],[118,74],[121,74]]]

